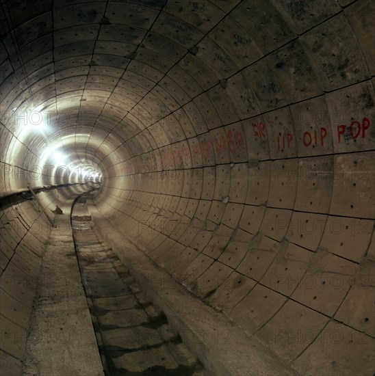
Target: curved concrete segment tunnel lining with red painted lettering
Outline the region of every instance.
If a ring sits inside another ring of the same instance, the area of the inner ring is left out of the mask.
[[[104,217],[275,356],[372,375],[372,14],[370,0],[1,1],[0,191],[75,181],[44,168],[60,148],[101,172]],[[0,351],[17,366],[34,285],[14,281],[38,276],[48,230],[33,202],[1,205]]]

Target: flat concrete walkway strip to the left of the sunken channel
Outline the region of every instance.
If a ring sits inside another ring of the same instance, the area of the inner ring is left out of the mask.
[[[55,218],[57,226],[62,223],[70,227],[69,215]],[[62,234],[57,228],[51,230],[43,254],[23,375],[101,376],[103,366],[81,284],[71,229]]]

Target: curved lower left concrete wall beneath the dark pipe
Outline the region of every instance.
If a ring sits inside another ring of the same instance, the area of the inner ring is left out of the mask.
[[[1,182],[8,176],[1,176]],[[66,187],[59,191],[38,193],[49,217],[60,204],[59,196],[72,197],[87,187]],[[61,235],[70,233],[68,223],[57,226]],[[25,355],[27,331],[33,300],[39,283],[61,284],[54,276],[42,276],[39,271],[51,224],[35,200],[23,196],[5,197],[0,202],[0,371],[18,375]],[[42,334],[46,335],[46,333]]]

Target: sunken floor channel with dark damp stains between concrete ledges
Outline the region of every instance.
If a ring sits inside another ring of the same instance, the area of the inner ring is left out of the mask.
[[[90,194],[90,193],[89,193]],[[73,239],[105,375],[207,376],[125,265],[95,231],[80,196]]]

